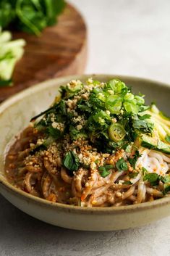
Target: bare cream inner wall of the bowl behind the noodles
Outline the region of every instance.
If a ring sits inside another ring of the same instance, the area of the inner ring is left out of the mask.
[[[54,101],[54,97],[59,94],[59,86],[72,79],[85,81],[89,77],[104,82],[111,78],[119,78],[127,86],[131,86],[132,91],[145,94],[147,104],[156,102],[160,110],[169,115],[170,87],[162,83],[119,75],[79,75],[48,80],[22,91],[0,106],[0,181],[6,180],[4,177],[4,151],[12,138],[14,139],[14,136],[28,125],[31,117],[46,110]]]

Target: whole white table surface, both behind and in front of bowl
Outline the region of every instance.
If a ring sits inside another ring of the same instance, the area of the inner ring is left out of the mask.
[[[70,2],[88,25],[86,73],[170,83],[169,0]],[[0,256],[170,256],[169,241],[170,217],[126,231],[71,231],[35,220],[0,196]]]

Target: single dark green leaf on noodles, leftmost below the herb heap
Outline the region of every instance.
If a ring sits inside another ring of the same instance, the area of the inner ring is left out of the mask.
[[[80,166],[80,160],[73,151],[69,151],[65,154],[63,165],[68,170],[71,170],[72,172],[75,170],[78,170]]]

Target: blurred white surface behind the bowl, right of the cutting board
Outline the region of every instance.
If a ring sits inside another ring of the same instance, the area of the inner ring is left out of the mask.
[[[71,0],[88,25],[86,73],[169,83],[169,0]]]

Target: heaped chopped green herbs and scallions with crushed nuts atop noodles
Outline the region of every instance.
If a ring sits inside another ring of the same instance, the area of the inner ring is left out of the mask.
[[[130,152],[137,136],[151,133],[149,115],[141,111],[145,107],[143,96],[132,94],[130,88],[118,79],[108,83],[72,80],[59,91],[60,101],[32,119],[43,115],[35,125],[54,139],[57,139],[58,131],[51,128],[54,127],[53,120],[64,125],[63,136],[68,134],[71,141],[88,139],[98,152],[112,153],[117,149]],[[129,109],[128,104],[131,105]],[[137,155],[132,158],[129,162],[135,166]]]

